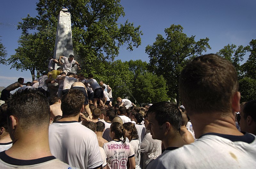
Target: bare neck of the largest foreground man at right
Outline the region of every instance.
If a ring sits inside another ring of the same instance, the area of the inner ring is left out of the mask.
[[[237,130],[235,115],[225,113],[223,116],[220,113],[200,113],[189,115],[196,138],[199,138],[205,133],[220,133],[234,136],[242,136],[243,133]]]

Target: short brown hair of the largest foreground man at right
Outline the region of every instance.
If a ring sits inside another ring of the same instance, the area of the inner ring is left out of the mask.
[[[181,100],[189,113],[232,111],[238,91],[236,69],[216,54],[196,57],[182,70],[179,80]]]

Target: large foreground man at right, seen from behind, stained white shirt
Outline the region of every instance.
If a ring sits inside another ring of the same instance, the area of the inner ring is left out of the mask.
[[[216,54],[196,57],[182,70],[179,90],[197,140],[166,153],[154,167],[255,168],[255,135],[236,128],[240,93],[232,63]]]

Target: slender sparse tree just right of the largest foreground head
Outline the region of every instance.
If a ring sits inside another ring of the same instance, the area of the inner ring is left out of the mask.
[[[240,45],[236,48],[236,45],[234,44],[228,44],[227,46],[224,46],[222,49],[220,49],[219,52],[217,52],[218,55],[229,60],[233,64],[233,66],[236,68],[239,79],[242,76],[240,62],[244,60],[245,53],[245,47]]]

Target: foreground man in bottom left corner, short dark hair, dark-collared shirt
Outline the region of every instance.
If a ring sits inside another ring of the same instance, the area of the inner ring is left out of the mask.
[[[36,90],[25,89],[15,92],[7,104],[13,145],[0,153],[0,168],[69,168],[52,156],[49,148],[47,98]]]

